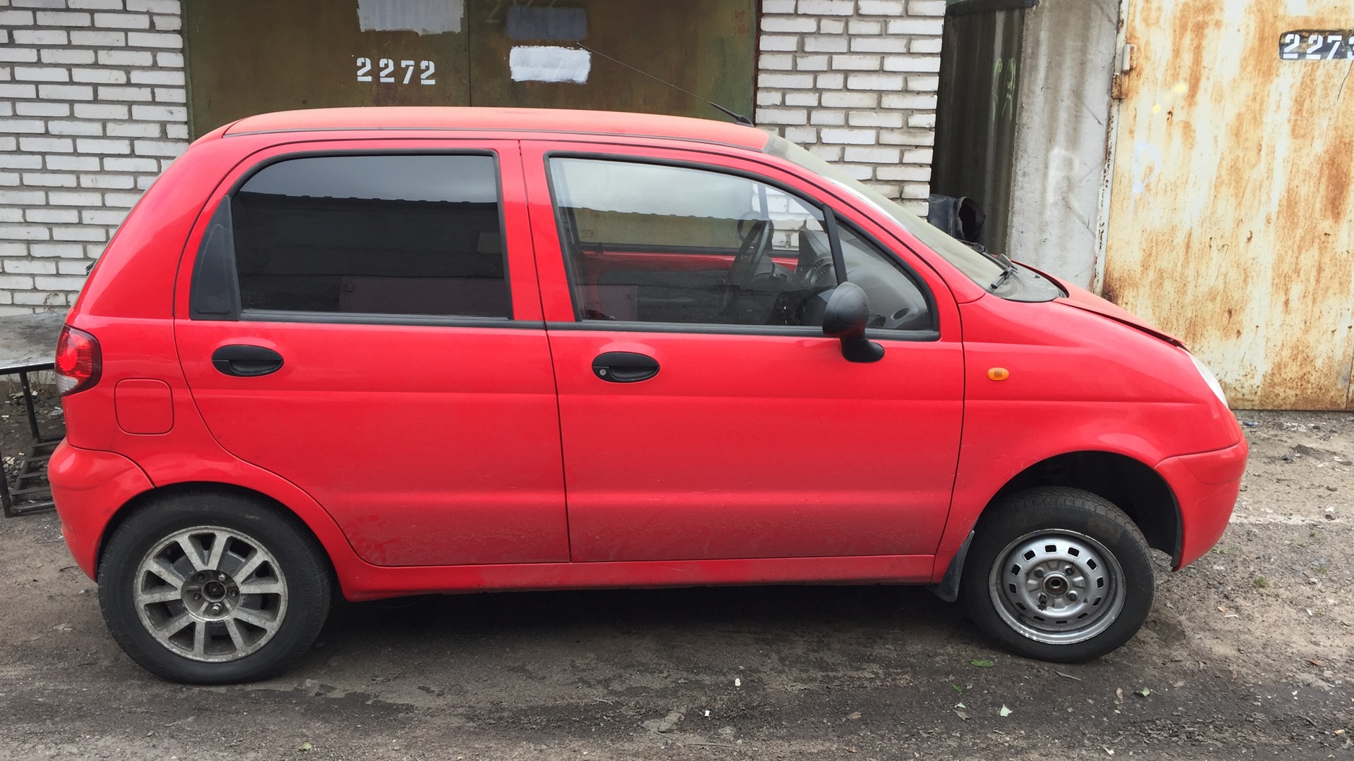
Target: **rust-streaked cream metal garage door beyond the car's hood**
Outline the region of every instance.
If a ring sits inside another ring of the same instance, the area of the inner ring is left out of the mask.
[[[1233,406],[1354,406],[1349,0],[1129,0],[1125,30],[1102,294]]]

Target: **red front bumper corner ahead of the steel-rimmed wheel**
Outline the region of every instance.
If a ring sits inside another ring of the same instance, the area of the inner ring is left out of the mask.
[[[1246,473],[1247,451],[1243,439],[1225,450],[1167,458],[1156,466],[1179,505],[1181,546],[1175,570],[1201,558],[1227,531]]]

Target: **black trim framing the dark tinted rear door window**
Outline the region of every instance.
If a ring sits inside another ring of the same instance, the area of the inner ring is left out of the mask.
[[[297,158],[330,158],[330,157],[351,157],[351,156],[487,156],[494,161],[494,191],[498,195],[498,238],[502,246],[502,267],[504,267],[504,288],[508,291],[508,316],[506,317],[475,317],[475,316],[459,316],[459,314],[417,314],[417,313],[401,313],[401,314],[371,314],[371,313],[355,313],[355,311],[313,311],[313,310],[260,310],[260,309],[244,309],[241,306],[240,298],[240,271],[236,267],[236,230],[234,230],[234,214],[230,209],[236,194],[253,179],[255,175],[272,167],[274,164],[280,164],[283,161],[292,161]],[[222,214],[222,207],[226,213]],[[218,217],[226,217],[229,223],[225,230],[225,246],[217,246],[217,251],[209,251],[207,244],[213,240],[211,226],[219,223]],[[221,249],[225,251],[221,251]],[[222,269],[223,268],[223,269]],[[204,272],[199,278],[199,272]],[[221,288],[221,278],[229,278],[230,283],[227,288],[227,301],[230,302],[229,311],[203,311],[202,305],[217,298],[215,294],[221,291],[211,291],[209,288]],[[292,153],[279,153],[276,156],[268,156],[257,164],[250,165],[245,172],[242,172],[236,181],[230,184],[230,188],[221,196],[217,202],[217,207],[213,209],[211,217],[209,218],[207,230],[202,236],[202,241],[198,244],[198,251],[194,253],[192,264],[192,279],[190,282],[188,290],[188,318],[200,321],[215,321],[215,322],[241,322],[241,321],[268,321],[268,322],[333,322],[341,325],[458,325],[458,326],[540,326],[540,321],[519,321],[513,318],[513,291],[512,291],[512,276],[509,272],[508,263],[508,221],[504,215],[504,173],[502,161],[500,161],[498,152],[490,148],[389,148],[389,149],[318,149],[318,150],[298,150]],[[267,316],[260,318],[259,316]],[[295,318],[284,318],[283,316],[295,316]],[[395,318],[395,320],[389,320]],[[451,318],[455,322],[447,322]],[[412,320],[412,321],[410,321]],[[466,324],[470,321],[473,324]],[[482,325],[481,325],[482,324]]]

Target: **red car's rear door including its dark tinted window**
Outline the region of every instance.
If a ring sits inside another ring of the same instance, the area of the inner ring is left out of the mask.
[[[179,283],[175,337],[211,433],[310,493],[370,563],[567,561],[525,227],[516,142],[250,157]]]

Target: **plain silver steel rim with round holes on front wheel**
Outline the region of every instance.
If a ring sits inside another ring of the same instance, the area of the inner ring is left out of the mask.
[[[992,604],[1007,626],[1036,642],[1085,642],[1124,609],[1124,569],[1085,534],[1034,531],[997,558],[987,580]]]

